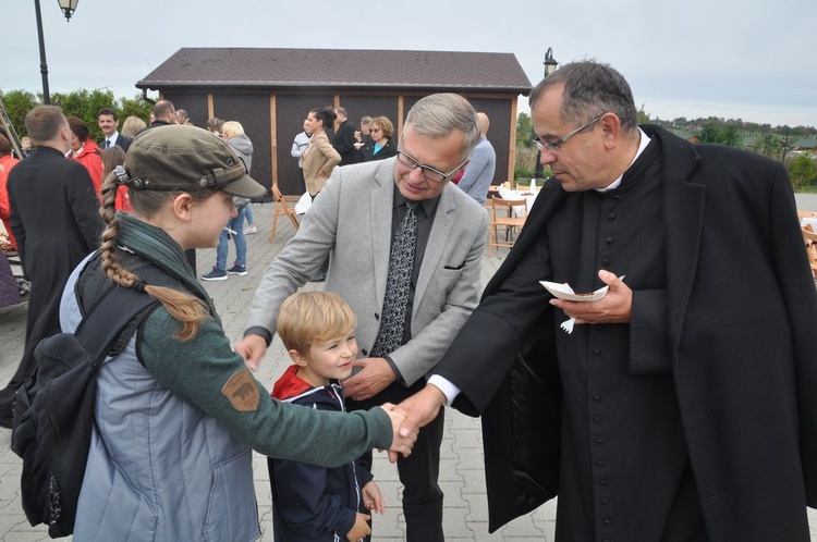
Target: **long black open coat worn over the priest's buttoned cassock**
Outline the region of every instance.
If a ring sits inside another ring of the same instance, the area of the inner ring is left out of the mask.
[[[791,182],[778,162],[644,130],[662,146],[666,318],[631,341],[631,357],[671,365],[709,540],[808,540],[817,294]],[[544,190],[436,369],[462,390],[454,406],[483,414],[491,531],[556,496],[571,453],[553,345],[563,317],[538,285],[552,278],[547,264],[517,272],[574,196],[554,180]]]

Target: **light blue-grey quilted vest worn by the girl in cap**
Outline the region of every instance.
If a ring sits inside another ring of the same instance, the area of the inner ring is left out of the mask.
[[[73,285],[84,263],[63,295],[64,331],[81,320]],[[135,335],[102,365],[95,409],[99,430],[92,435],[74,540],[260,537],[249,446],[158,382],[136,357]]]

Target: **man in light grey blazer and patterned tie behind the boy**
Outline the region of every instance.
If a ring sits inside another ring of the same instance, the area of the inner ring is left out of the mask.
[[[350,409],[398,403],[422,390],[479,299],[487,212],[449,185],[478,138],[476,113],[464,98],[431,95],[408,112],[398,157],[337,168],[256,292],[244,340],[235,345],[247,365],[257,367],[266,352],[281,303],[331,255],[326,290],[357,315],[363,356],[344,383]],[[408,201],[418,204],[417,241],[401,346],[367,357],[380,330],[390,251]],[[443,540],[437,483],[442,428],[441,411],[420,430],[413,454],[398,459],[410,541]]]

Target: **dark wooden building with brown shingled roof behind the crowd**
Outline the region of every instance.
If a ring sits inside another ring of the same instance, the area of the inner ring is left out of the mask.
[[[136,84],[197,126],[241,122],[255,146],[253,176],[286,195],[305,189],[290,148],[310,109],[343,107],[355,125],[386,115],[397,139],[411,107],[434,93],[460,94],[488,114],[495,184],[513,178],[516,100],[531,86],[513,53],[241,48],[180,49]]]

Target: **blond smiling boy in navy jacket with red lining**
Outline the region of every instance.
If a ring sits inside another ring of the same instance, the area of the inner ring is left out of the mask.
[[[357,357],[354,312],[337,294],[301,292],[278,316],[278,335],[290,366],[272,397],[318,410],[344,411],[341,381]],[[331,447],[334,443],[326,443]],[[367,510],[382,514],[383,497],[359,461],[325,468],[301,461],[267,459],[272,486],[272,525],[277,542],[358,541],[371,531]]]

